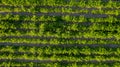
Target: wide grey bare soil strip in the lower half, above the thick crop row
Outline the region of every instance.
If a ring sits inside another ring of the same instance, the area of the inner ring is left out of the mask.
[[[0,42],[0,46],[29,46],[29,47],[107,47],[107,48],[120,48],[119,44],[33,44],[33,43],[11,43],[11,42]]]

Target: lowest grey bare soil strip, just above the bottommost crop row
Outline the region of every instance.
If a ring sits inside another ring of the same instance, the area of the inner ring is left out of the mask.
[[[115,63],[115,62],[120,62],[120,61],[114,61],[114,60],[107,60],[107,61],[97,61],[97,60],[88,60],[88,61],[67,61],[67,60],[62,60],[62,61],[52,61],[52,60],[27,60],[27,59],[0,59],[0,62],[33,62],[33,63]]]

